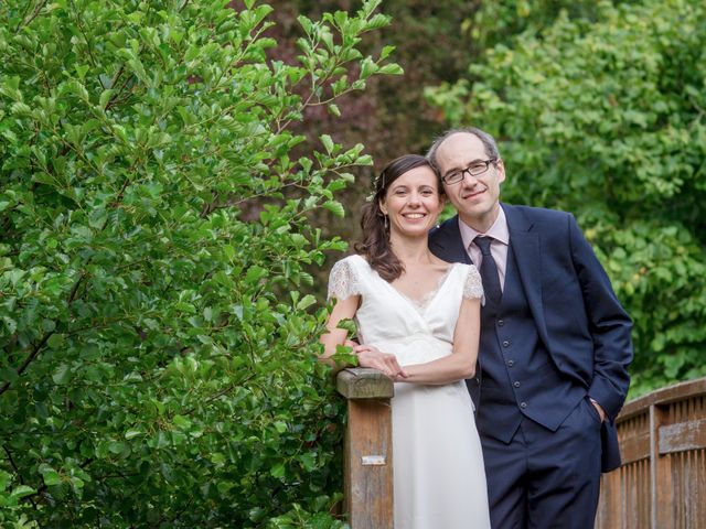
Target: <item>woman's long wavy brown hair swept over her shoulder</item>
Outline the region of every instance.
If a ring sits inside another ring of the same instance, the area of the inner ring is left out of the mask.
[[[389,162],[375,181],[375,194],[363,206],[361,228],[363,240],[355,245],[355,251],[367,259],[371,268],[386,281],[394,281],[405,271],[405,267],[393,252],[389,244],[389,227],[385,222],[385,214],[379,208],[381,199],[385,198],[391,184],[407,171],[417,168],[429,168],[437,175],[437,191],[443,193],[438,172],[425,156],[419,154],[403,154]]]

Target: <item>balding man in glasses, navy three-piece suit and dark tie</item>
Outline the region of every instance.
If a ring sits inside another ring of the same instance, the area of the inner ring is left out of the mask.
[[[632,322],[573,215],[500,203],[493,138],[445,133],[428,158],[458,215],[429,238],[483,278],[478,404],[494,528],[592,528],[600,472],[620,464]]]

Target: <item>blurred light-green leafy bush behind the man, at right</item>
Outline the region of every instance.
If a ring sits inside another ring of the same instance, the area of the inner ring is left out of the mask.
[[[600,2],[429,90],[502,140],[507,202],[573,210],[635,321],[633,395],[706,375],[706,7]]]

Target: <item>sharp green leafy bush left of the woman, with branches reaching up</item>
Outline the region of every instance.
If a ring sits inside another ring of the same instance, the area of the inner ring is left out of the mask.
[[[342,525],[308,215],[371,158],[290,129],[398,73],[378,3],[292,64],[253,0],[0,4],[3,526]]]

